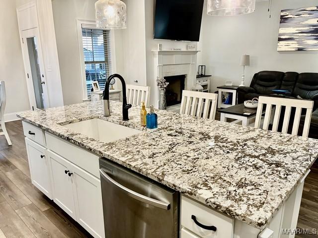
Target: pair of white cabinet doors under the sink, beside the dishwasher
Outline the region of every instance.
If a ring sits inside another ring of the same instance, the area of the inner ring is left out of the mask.
[[[100,179],[57,155],[52,164],[53,200],[94,237],[104,237]]]

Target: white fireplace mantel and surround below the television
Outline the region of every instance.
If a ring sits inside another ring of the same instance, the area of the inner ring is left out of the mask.
[[[192,90],[197,75],[197,53],[199,51],[152,51],[154,55],[154,80],[157,77],[186,75],[185,90]],[[156,85],[153,82],[152,85]],[[157,85],[156,85],[157,87]],[[158,108],[158,88],[151,95],[155,108]]]

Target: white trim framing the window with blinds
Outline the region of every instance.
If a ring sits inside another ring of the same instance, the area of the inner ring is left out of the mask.
[[[87,90],[86,90],[86,74],[85,74],[85,60],[84,60],[84,52],[83,52],[83,40],[81,27],[82,25],[91,25],[92,29],[96,28],[95,20],[83,20],[77,19],[77,33],[78,33],[78,44],[79,44],[79,60],[80,60],[80,72],[81,72],[81,88],[82,88],[82,96],[83,101],[89,101],[87,98]],[[111,70],[112,73],[116,72],[116,54],[115,54],[115,38],[114,38],[114,30],[110,30],[110,54],[111,54]]]

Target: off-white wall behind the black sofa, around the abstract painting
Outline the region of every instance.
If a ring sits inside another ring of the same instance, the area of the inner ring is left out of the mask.
[[[256,11],[233,17],[203,14],[198,64],[205,64],[213,75],[211,89],[231,80],[239,85],[242,54],[250,55],[251,66],[245,68],[245,85],[261,70],[318,72],[318,52],[277,52],[280,11],[317,5],[317,0],[273,0],[269,18],[268,1],[256,3]]]

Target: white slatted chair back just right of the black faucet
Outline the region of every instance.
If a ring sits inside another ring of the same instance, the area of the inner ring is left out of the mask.
[[[127,103],[141,106],[141,103],[145,102],[145,105],[147,107],[149,92],[150,92],[149,86],[127,84],[126,85]]]

